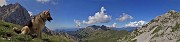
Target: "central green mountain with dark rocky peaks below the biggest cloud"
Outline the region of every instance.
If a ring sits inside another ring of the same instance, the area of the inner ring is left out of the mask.
[[[117,42],[118,39],[129,35],[130,32],[126,30],[114,30],[104,25],[92,25],[69,34],[79,38],[81,42]]]

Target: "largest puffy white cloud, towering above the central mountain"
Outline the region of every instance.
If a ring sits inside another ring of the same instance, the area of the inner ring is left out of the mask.
[[[95,13],[94,16],[89,16],[89,21],[83,21],[84,24],[94,24],[94,23],[107,23],[111,20],[111,16],[106,15],[106,9],[101,7],[100,12]]]

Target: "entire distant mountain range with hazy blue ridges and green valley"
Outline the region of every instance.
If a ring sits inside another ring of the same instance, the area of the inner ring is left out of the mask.
[[[135,28],[134,28],[135,29]],[[104,25],[91,25],[85,28],[71,28],[71,29],[56,29],[56,32],[66,32],[76,38],[80,39],[80,42],[113,42],[117,39],[120,39],[121,36],[128,35],[128,31],[133,31],[133,28],[111,28],[106,27]],[[113,36],[114,35],[114,36]],[[100,37],[99,37],[100,36]],[[115,39],[108,39],[108,38],[115,38]],[[120,38],[119,38],[120,37]],[[90,39],[91,38],[91,39]],[[98,38],[98,39],[96,39]]]

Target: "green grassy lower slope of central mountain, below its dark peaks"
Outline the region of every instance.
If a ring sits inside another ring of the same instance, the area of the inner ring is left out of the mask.
[[[118,39],[122,39],[126,35],[129,35],[129,33],[125,30],[98,30],[90,33],[88,37],[83,38],[83,40],[84,42],[117,42]]]

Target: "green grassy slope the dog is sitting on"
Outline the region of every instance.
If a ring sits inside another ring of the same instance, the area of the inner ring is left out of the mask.
[[[72,39],[68,39],[63,35],[47,35],[43,33],[42,39],[31,39],[32,37],[29,35],[20,35],[16,34],[13,31],[13,27],[21,28],[19,25],[15,25],[12,23],[7,23],[4,21],[0,21],[0,41],[1,42],[22,42],[22,41],[28,41],[28,42],[43,42],[43,41],[51,41],[51,42],[74,42]],[[12,34],[12,37],[10,37],[10,40],[8,40],[6,37],[6,34]],[[5,38],[6,39],[5,39]]]

